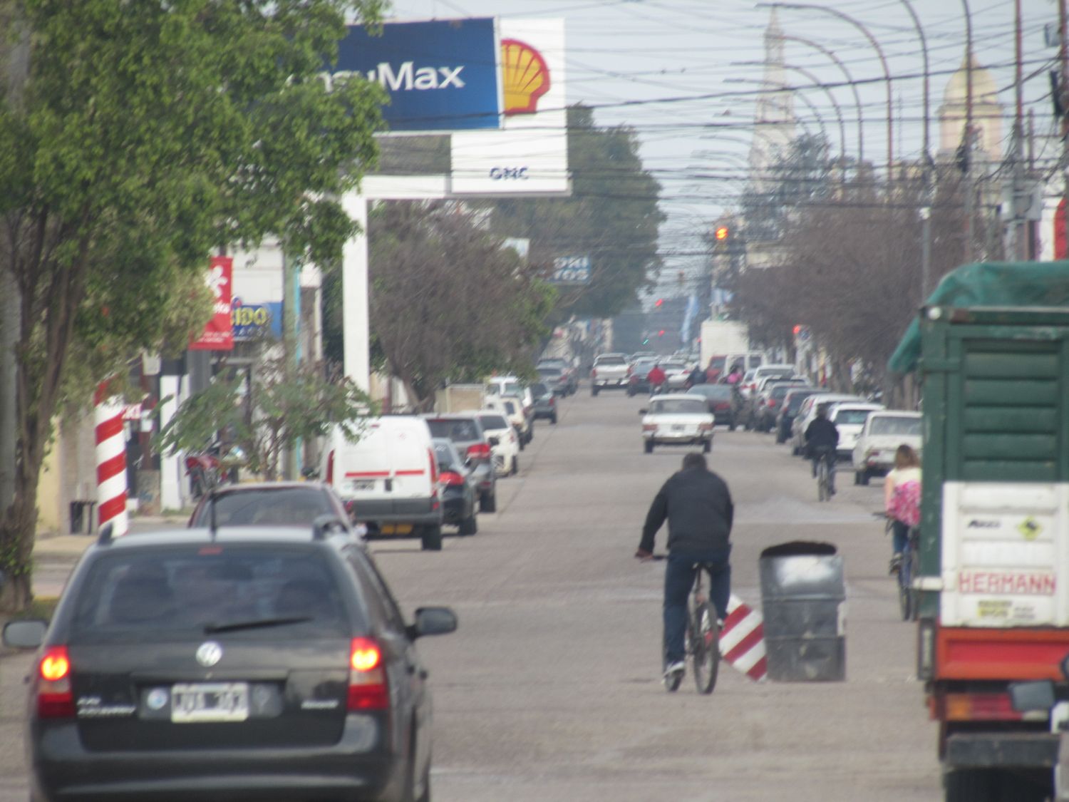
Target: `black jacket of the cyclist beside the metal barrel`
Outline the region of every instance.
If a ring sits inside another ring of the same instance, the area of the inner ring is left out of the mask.
[[[653,552],[653,536],[666,518],[668,551],[726,549],[734,518],[728,485],[716,474],[702,468],[673,474],[650,505],[639,549]]]

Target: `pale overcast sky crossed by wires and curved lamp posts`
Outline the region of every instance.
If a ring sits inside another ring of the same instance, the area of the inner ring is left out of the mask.
[[[800,0],[807,2],[807,0]],[[1013,0],[967,0],[974,52],[989,66],[1011,114],[1013,97]],[[894,79],[895,156],[916,157],[921,148],[923,60],[920,45],[901,0],[808,0],[849,14],[865,25],[886,55]],[[934,120],[950,74],[962,62],[965,25],[962,0],[913,0],[928,40],[931,115]],[[781,9],[787,35],[811,40],[835,52],[859,87],[866,160],[886,158],[886,84],[874,48],[853,26],[825,12]],[[393,0],[399,20],[460,16],[561,17],[566,20],[568,102],[595,109],[601,125],[624,124],[641,140],[644,163],[661,182],[661,231],[666,273],[697,269],[700,234],[725,210],[745,174],[757,89],[745,81],[761,78],[760,66],[740,62],[763,59],[763,33],[770,10],[753,0]],[[1057,50],[1047,47],[1043,27],[1056,21],[1053,0],[1022,0],[1024,75],[1027,109],[1034,109],[1039,134],[1053,130],[1048,70]],[[799,43],[786,46],[788,64],[808,70],[824,82],[841,84],[843,75],[819,50]],[[741,82],[739,79],[743,79]],[[839,126],[828,93],[811,88],[801,72],[788,71],[792,86],[806,87],[794,110],[803,126],[820,132],[824,121],[833,150]],[[857,155],[857,105],[849,87],[831,87],[847,124],[846,150]],[[693,99],[680,99],[693,98]],[[808,101],[808,103],[806,103]],[[816,108],[816,113],[810,104]],[[732,125],[725,126],[725,123]],[[1007,118],[1008,135],[1011,120]],[[932,150],[939,128],[931,127]],[[1047,164],[1057,154],[1052,143],[1039,154]]]

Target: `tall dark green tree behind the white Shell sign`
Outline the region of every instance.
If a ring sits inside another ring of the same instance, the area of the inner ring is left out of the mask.
[[[570,198],[493,201],[491,225],[501,236],[529,238],[536,263],[589,255],[589,287],[562,290],[557,317],[611,318],[636,304],[661,268],[661,185],[642,168],[634,130],[599,127],[584,106],[568,110],[568,163]]]

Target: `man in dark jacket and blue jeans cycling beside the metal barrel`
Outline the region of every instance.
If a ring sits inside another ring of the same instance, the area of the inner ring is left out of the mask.
[[[653,538],[668,520],[668,567],[665,570],[664,678],[685,669],[686,597],[701,566],[710,567],[709,596],[721,620],[731,592],[731,521],[734,506],[725,481],[709,469],[700,453],[683,458],[683,468],[668,478],[646,515],[635,556],[653,556]]]

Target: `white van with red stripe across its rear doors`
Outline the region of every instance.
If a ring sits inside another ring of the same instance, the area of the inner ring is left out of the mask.
[[[355,443],[335,429],[320,475],[353,503],[353,515],[369,535],[415,535],[423,549],[441,549],[438,466],[422,418],[370,418]]]

